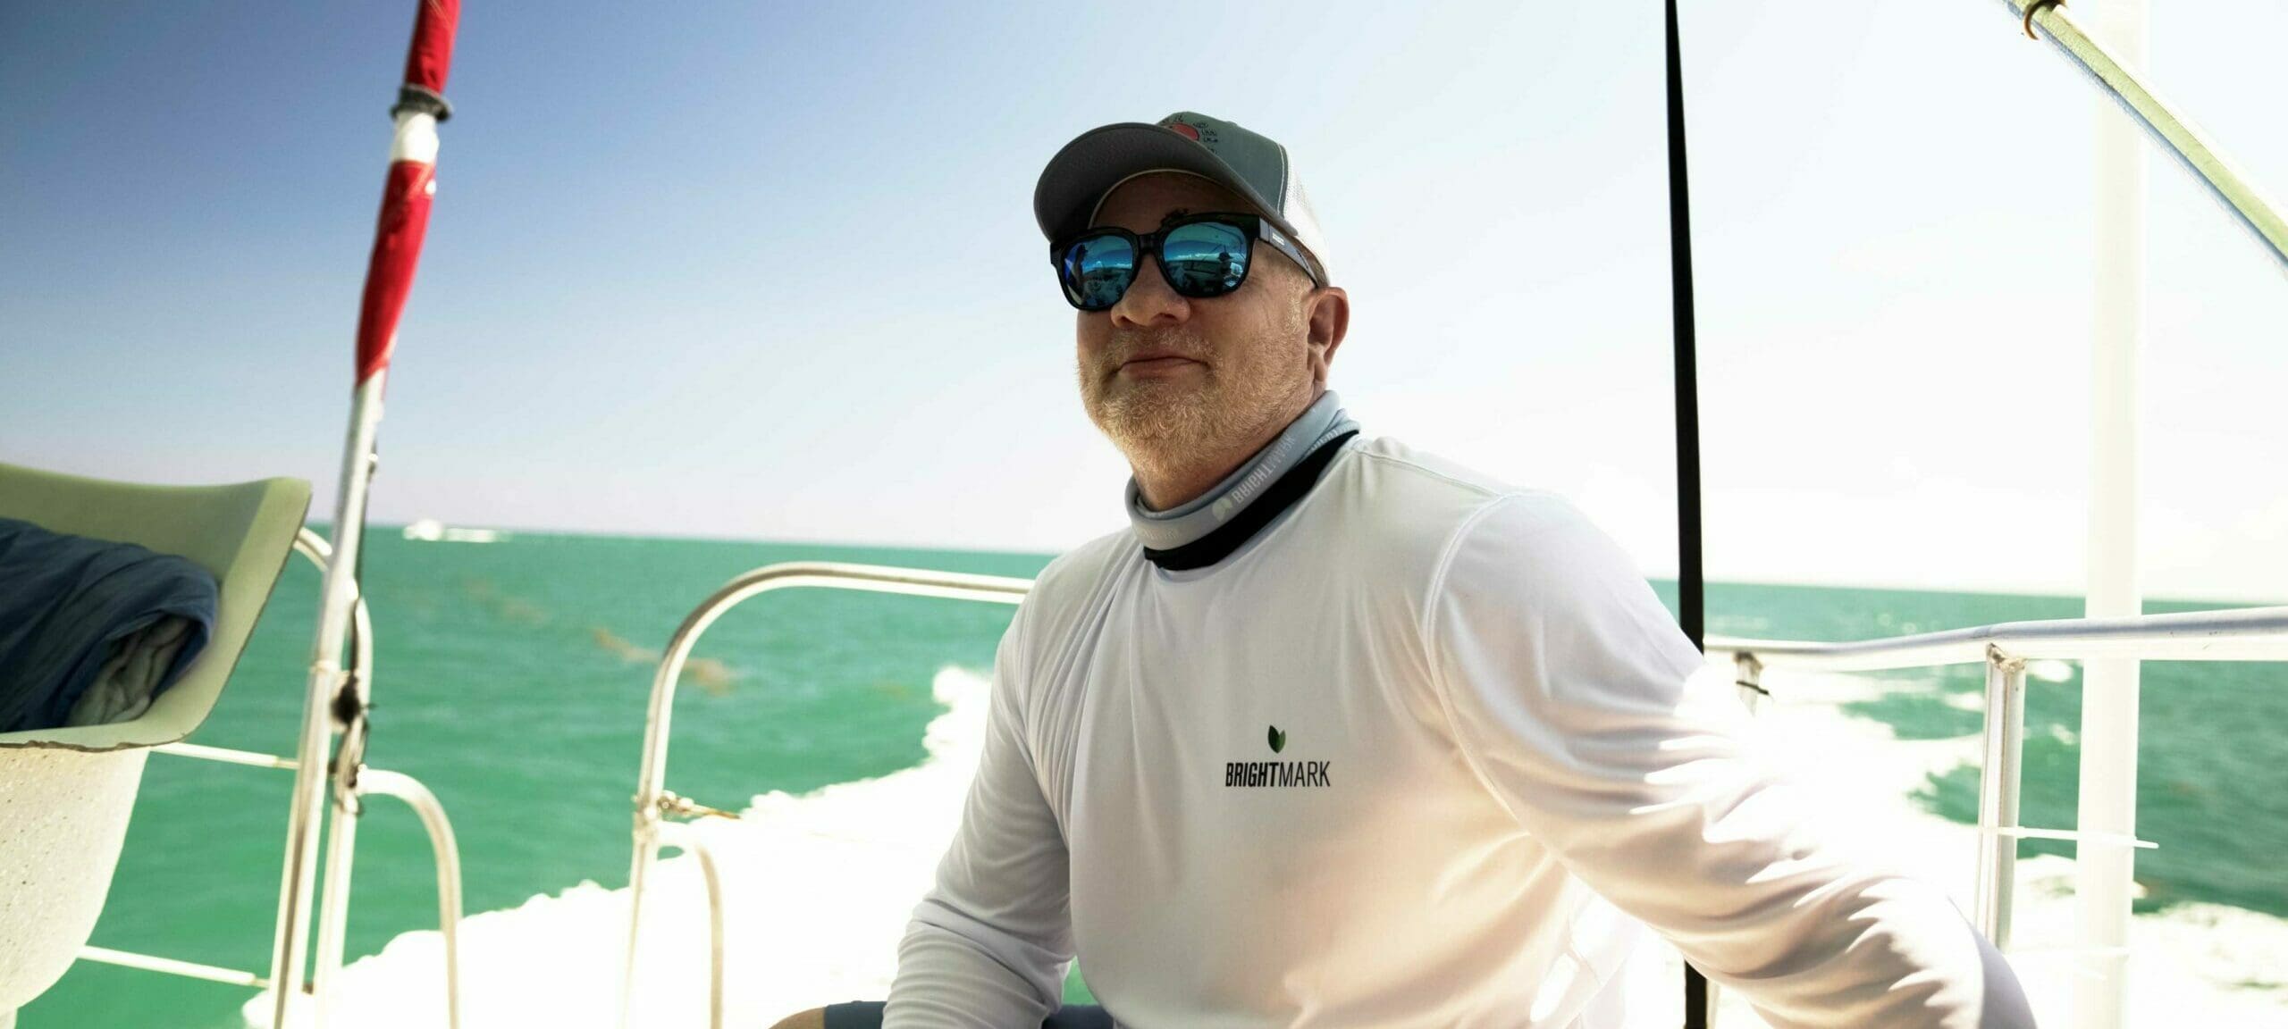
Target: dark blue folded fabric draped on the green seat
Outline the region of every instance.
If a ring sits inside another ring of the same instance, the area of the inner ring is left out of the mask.
[[[192,629],[165,691],[206,649],[217,599],[185,558],[0,519],[0,732],[64,725],[119,640],[178,615]]]

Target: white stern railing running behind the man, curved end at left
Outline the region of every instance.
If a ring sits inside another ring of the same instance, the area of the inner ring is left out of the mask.
[[[620,979],[620,1027],[629,1024],[636,990],[636,954],[643,926],[643,890],[661,848],[698,855],[707,887],[709,926],[709,1027],[723,1024],[723,894],[714,855],[700,832],[670,816],[734,816],[691,803],[666,789],[668,732],[675,686],[698,638],[741,601],[787,588],[890,592],[906,597],[1018,604],[1030,579],[975,576],[883,565],[785,563],[732,579],[693,608],[652,677],[650,716],[643,729],[643,768],[636,784],[634,864],[629,869],[627,954]],[[1764,668],[1826,672],[1876,672],[1938,665],[1986,665],[1984,748],[1979,773],[1979,876],[1977,926],[2000,949],[2009,949],[2016,876],[2016,839],[2071,839],[2078,846],[2155,844],[2114,835],[2018,825],[2020,757],[2025,748],[2027,661],[2288,661],[2288,606],[2240,611],[2192,611],[2142,617],[2073,617],[2055,622],[2002,622],[1975,629],[1894,636],[1858,643],[1753,640],[1711,636],[1709,654],[1730,654],[1743,700],[1755,707],[1769,693]],[[2119,903],[2128,906],[2123,894]],[[2073,951],[2073,949],[2068,949]]]

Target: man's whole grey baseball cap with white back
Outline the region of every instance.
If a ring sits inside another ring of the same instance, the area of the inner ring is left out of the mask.
[[[1064,144],[1032,190],[1032,217],[1048,242],[1078,236],[1112,188],[1149,172],[1190,172],[1254,204],[1279,231],[1302,242],[1327,279],[1327,240],[1295,178],[1286,146],[1231,121],[1178,110],[1158,123],[1119,121]]]

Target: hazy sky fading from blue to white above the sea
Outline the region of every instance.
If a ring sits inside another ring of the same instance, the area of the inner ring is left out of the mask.
[[[188,7],[0,7],[0,460],[323,510],[412,5]],[[1368,432],[1673,574],[1659,9],[1428,7],[471,0],[373,517],[1117,528],[1032,183],[1201,110],[1293,151]],[[2288,190],[2288,9],[2153,7],[2164,96]],[[2096,91],[1995,0],[1684,34],[1709,574],[2078,590]],[[2288,277],[2151,172],[2142,569],[2288,599]]]

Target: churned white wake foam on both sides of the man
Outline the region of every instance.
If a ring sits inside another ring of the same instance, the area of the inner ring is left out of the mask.
[[[1881,688],[1867,679],[1766,672],[1766,686],[1782,702],[1766,707],[1759,727],[1837,837],[1943,885],[1970,910],[1977,832],[1922,812],[1908,793],[1931,771],[1975,761],[1977,741],[1894,741],[1881,723],[1844,716],[1840,702]],[[888,992],[906,915],[952,839],[984,741],[986,679],[947,668],[934,693],[947,711],[929,723],[920,766],[803,796],[757,796],[737,823],[700,823],[723,871],[725,1024],[766,1029],[801,1008]],[[2013,965],[2043,1024],[2068,1018],[2071,960],[2043,949],[2071,940],[2071,860],[2020,862]],[[707,908],[696,860],[664,860],[654,883],[634,1024],[705,1027]],[[625,938],[627,892],[595,883],[469,917],[464,1029],[611,1027]],[[2130,1024],[2288,1024],[2281,970],[2283,919],[2203,903],[2139,917]],[[1679,1024],[1675,954],[1631,974],[1640,999],[1631,1024]],[[1739,997],[1725,1006],[1721,1024],[1762,1024]],[[247,1022],[268,1024],[268,997],[256,997]],[[442,938],[405,933],[343,970],[332,1024],[444,1027]]]

